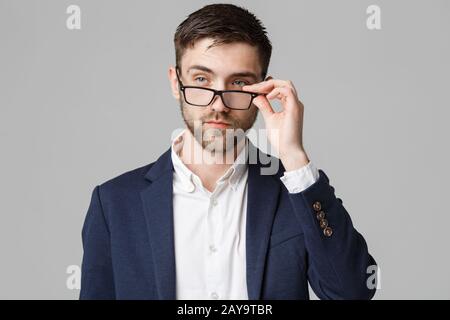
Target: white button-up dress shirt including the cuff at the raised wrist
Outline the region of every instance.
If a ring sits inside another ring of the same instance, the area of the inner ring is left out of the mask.
[[[248,300],[245,148],[210,192],[178,155],[185,132],[173,140],[171,148],[176,297]],[[290,193],[297,193],[318,177],[318,170],[309,162],[298,170],[285,172],[280,179]]]

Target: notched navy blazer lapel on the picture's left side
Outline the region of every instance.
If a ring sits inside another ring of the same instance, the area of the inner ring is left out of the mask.
[[[141,192],[153,254],[159,299],[176,299],[175,247],[173,235],[173,165],[167,150],[145,176],[151,185]]]

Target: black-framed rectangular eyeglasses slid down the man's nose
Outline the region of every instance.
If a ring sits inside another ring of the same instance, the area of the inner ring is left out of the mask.
[[[242,90],[214,90],[210,88],[185,86],[180,80],[178,74],[179,68],[176,67],[177,79],[180,84],[180,90],[183,92],[184,101],[187,104],[197,107],[207,107],[216,96],[220,96],[223,104],[234,110],[250,109],[253,99],[264,93],[242,91]]]

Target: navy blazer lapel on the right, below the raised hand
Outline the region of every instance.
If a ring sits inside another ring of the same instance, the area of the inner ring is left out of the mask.
[[[250,144],[250,147],[253,147]],[[256,164],[249,164],[246,254],[247,291],[250,300],[261,298],[266,255],[280,193],[280,184],[274,175],[262,175],[259,149]],[[277,160],[276,158],[271,158]]]

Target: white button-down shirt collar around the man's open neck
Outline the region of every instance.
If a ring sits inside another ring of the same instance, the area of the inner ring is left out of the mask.
[[[193,192],[195,190],[196,184],[200,185],[200,178],[195,175],[191,170],[186,167],[186,165],[181,161],[179,153],[183,146],[183,138],[187,129],[184,129],[180,134],[178,134],[172,141],[171,155],[174,170],[181,180],[184,189],[187,192]],[[244,147],[239,152],[236,160],[233,162],[230,168],[217,180],[217,184],[227,183],[233,189],[236,190],[238,183],[244,176],[247,170],[247,159],[248,159],[248,138],[245,137]]]

